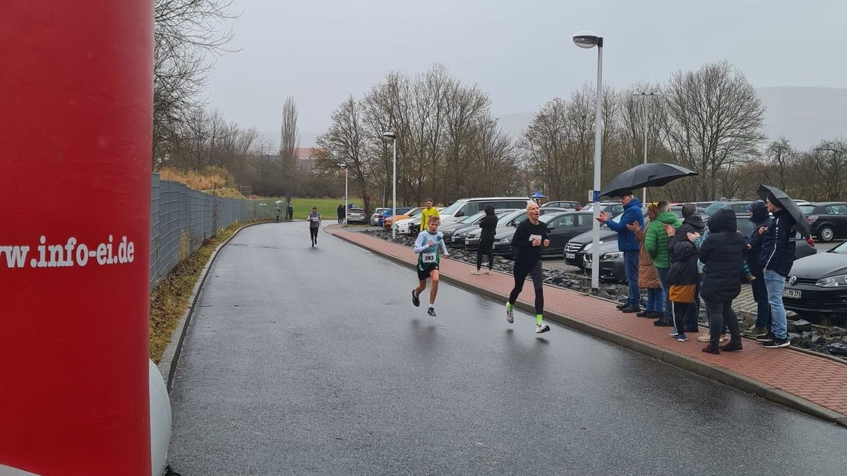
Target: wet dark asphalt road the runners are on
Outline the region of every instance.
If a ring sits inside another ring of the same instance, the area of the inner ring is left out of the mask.
[[[412,269],[306,228],[242,230],[211,271],[171,396],[184,476],[845,472],[847,429],[451,285],[430,318]]]

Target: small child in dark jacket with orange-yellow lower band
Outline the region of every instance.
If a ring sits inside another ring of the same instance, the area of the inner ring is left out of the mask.
[[[689,241],[678,241],[673,248],[676,258],[667,273],[667,284],[670,289],[667,296],[673,302],[673,332],[677,340],[688,340],[685,335],[685,311],[694,305],[697,287],[697,252]]]

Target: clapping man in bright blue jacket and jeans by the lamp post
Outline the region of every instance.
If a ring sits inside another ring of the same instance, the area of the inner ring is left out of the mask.
[[[632,191],[625,191],[621,196],[623,215],[617,223],[606,212],[601,212],[597,220],[605,223],[610,229],[617,231],[617,249],[623,252],[623,272],[627,276],[629,296],[627,302],[617,308],[624,313],[638,313],[641,303],[641,293],[638,287],[638,261],[640,243],[635,234],[628,229],[635,222],[644,228],[644,213],[641,212],[641,202],[635,198]],[[595,263],[595,266],[597,263]]]

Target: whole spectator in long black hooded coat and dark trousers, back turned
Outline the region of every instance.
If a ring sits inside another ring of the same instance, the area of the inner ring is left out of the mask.
[[[738,316],[733,311],[733,299],[741,292],[744,273],[745,237],[738,231],[735,213],[723,208],[709,219],[709,236],[700,246],[700,261],[703,263],[703,280],[700,296],[706,303],[709,314],[709,345],[703,348],[711,354],[720,351],[741,350],[741,331]],[[729,343],[717,344],[721,328],[726,323],[731,339]]]

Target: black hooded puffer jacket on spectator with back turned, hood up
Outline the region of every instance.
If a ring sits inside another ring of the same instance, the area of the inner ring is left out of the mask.
[[[732,301],[744,278],[745,237],[738,231],[735,213],[723,208],[709,219],[709,236],[700,246],[703,280],[700,296],[707,301]]]

